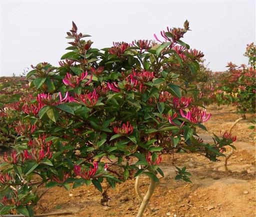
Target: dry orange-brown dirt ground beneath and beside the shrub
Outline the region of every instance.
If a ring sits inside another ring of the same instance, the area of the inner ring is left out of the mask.
[[[204,140],[211,133],[225,131],[239,118],[233,107],[210,106],[210,121],[205,126],[208,132],[199,132]],[[198,154],[176,154],[177,166],[185,165],[191,172],[192,184],[175,181],[175,172],[170,156],[163,156],[160,165],[165,177],[160,179],[150,201],[151,214],[148,217],[255,217],[255,132],[246,120],[239,122],[232,134],[237,135],[234,143],[237,150],[228,161],[229,173],[224,172],[223,158],[209,162]],[[140,191],[146,191],[147,177],[140,180]],[[73,212],[65,217],[133,217],[140,201],[134,192],[134,180],[116,186],[108,191],[108,206],[100,205],[101,194],[93,186],[82,186],[67,192],[56,187],[50,189],[40,200],[36,213]],[[64,217],[64,216],[63,216]]]

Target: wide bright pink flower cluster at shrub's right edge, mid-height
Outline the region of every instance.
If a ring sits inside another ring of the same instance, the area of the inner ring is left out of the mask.
[[[180,115],[189,120],[190,122],[194,124],[201,124],[203,122],[206,122],[210,119],[211,114],[207,114],[205,111],[202,111],[198,109],[197,107],[192,107],[189,111],[184,114],[183,110],[180,109]]]

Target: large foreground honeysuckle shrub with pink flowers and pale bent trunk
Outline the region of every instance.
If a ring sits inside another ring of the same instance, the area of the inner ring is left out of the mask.
[[[186,21],[183,28],[162,31],[160,44],[116,42],[99,50],[73,23],[67,32],[70,52],[59,67],[39,63],[27,74],[36,91],[16,108],[24,122],[16,126],[15,151],[1,164],[0,214],[16,210],[33,216],[40,197],[34,190],[41,184],[66,189],[93,184],[102,192],[103,181],[114,188],[144,174],[150,185],[141,217],[159,182],[156,175],[163,176],[161,154],[197,152],[211,161],[223,156],[232,140],[215,136],[208,144],[196,138],[196,128],[205,129],[210,114],[186,96],[177,85],[181,74],[173,73],[179,66],[195,72],[202,56],[180,40],[188,29]],[[190,182],[188,175],[177,168],[177,180]]]

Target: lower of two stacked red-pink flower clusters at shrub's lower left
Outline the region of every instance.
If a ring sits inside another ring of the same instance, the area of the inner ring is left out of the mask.
[[[44,147],[41,146],[41,149],[33,147],[30,152],[28,150],[23,151],[25,160],[34,160],[36,162],[40,162],[42,159],[47,158],[50,159],[52,157],[52,152],[50,152],[50,147],[48,146],[46,151],[44,151]]]

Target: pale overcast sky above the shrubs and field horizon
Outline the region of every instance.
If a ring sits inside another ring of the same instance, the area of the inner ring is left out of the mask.
[[[72,20],[103,48],[153,39],[187,19],[192,31],[182,40],[203,51],[211,70],[225,70],[228,61],[247,63],[255,9],[255,0],[0,0],[0,76],[19,75],[39,62],[56,65]]]

